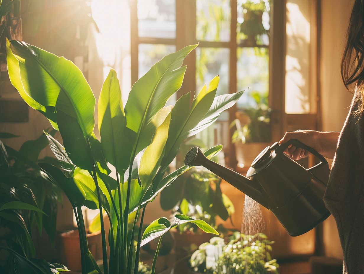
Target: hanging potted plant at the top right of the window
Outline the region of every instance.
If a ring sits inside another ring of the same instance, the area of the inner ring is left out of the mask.
[[[254,47],[257,45],[259,35],[268,34],[262,24],[262,16],[266,11],[265,1],[246,0],[241,7],[244,21],[240,24],[240,32],[246,37],[246,46]]]

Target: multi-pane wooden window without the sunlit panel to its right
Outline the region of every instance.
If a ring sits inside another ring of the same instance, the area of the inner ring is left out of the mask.
[[[188,83],[179,96],[198,92],[220,75],[218,95],[249,87],[238,110],[257,107],[254,93],[268,103],[269,0],[133,0],[131,5],[132,83],[164,55],[199,42],[186,60]],[[246,31],[254,27],[256,32]],[[230,154],[229,124],[234,112],[223,113],[197,138],[206,147],[222,143],[225,154]]]

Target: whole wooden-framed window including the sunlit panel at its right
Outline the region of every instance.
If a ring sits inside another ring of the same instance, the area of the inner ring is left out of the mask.
[[[198,92],[215,75],[220,75],[217,94],[246,90],[234,108],[197,136],[206,147],[223,144],[230,166],[236,163],[229,125],[236,118],[261,119],[254,116],[261,110],[270,117],[258,133],[264,138],[253,142],[270,143],[288,130],[314,129],[317,2],[298,2],[132,0],[132,83],[164,55],[199,42],[185,60],[188,68],[177,97]]]

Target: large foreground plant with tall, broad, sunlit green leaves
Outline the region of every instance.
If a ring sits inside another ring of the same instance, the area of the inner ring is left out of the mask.
[[[181,174],[182,166],[165,174],[183,140],[212,124],[222,111],[242,95],[215,97],[219,77],[204,86],[190,103],[190,93],[175,105],[167,100],[182,85],[185,57],[197,45],[164,57],[134,83],[125,107],[116,73],[111,70],[98,100],[100,140],[94,134],[95,97],[82,72],[69,60],[20,41],[7,41],[7,64],[11,83],[29,106],[48,118],[59,130],[63,145],[47,134],[59,166],[41,167],[70,200],[80,234],[82,273],[102,273],[87,244],[81,206],[99,209],[103,250],[103,273],[138,273],[141,246],[159,237],[151,267],[155,272],[161,239],[172,227],[194,223],[207,233],[218,234],[203,220],[176,214],[159,218],[142,231],[145,207]],[[222,146],[205,151],[208,158]],[[116,173],[116,180],[110,176]],[[135,213],[132,229],[128,216]],[[110,221],[107,257],[103,215]],[[141,214],[141,216],[139,216]],[[137,238],[136,245],[134,239]]]

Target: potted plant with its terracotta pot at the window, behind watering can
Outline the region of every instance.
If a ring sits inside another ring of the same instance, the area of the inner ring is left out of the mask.
[[[232,136],[236,151],[238,168],[250,167],[259,152],[270,143],[270,113],[267,96],[258,92],[250,94],[256,107],[247,108],[236,113],[237,118],[230,124],[236,128]]]

